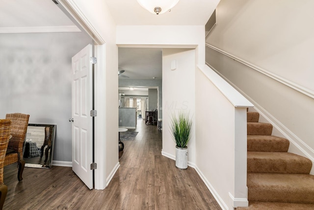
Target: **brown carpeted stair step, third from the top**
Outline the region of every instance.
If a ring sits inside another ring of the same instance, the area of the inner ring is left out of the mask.
[[[288,151],[288,139],[278,136],[248,135],[248,151]]]

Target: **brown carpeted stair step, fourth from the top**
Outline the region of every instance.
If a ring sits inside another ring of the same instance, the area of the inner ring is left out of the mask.
[[[289,152],[248,151],[247,172],[310,174],[312,161]]]

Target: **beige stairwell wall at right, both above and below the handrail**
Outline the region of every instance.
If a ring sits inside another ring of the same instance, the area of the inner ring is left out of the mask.
[[[246,94],[262,113],[262,120],[275,126],[273,134],[289,139],[289,151],[312,161],[313,7],[311,0],[221,0],[217,26],[206,39],[206,43],[251,65],[206,49],[209,65]]]

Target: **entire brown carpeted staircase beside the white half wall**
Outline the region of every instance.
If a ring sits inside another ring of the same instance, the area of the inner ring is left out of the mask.
[[[312,161],[288,152],[289,141],[272,136],[272,125],[247,112],[249,207],[236,210],[314,210]]]

